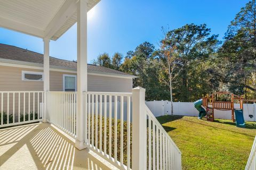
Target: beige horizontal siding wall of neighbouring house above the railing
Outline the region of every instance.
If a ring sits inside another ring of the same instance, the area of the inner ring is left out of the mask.
[[[22,71],[43,70],[0,66],[0,91],[42,91],[42,81],[22,81]],[[75,73],[50,71],[50,91],[63,91],[63,74]],[[88,75],[88,91],[132,92],[132,79]]]

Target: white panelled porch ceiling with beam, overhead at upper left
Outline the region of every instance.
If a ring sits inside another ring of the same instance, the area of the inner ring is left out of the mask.
[[[100,0],[88,0],[87,11]],[[0,27],[57,40],[77,22],[77,0],[0,0]]]

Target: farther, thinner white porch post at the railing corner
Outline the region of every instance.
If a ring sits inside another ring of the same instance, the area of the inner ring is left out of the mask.
[[[49,48],[50,48],[50,39],[44,38],[44,113],[43,113],[43,122],[46,121],[47,113],[47,96],[46,92],[50,90],[50,57],[49,57]]]

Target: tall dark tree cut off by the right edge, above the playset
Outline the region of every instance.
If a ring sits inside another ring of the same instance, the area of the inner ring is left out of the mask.
[[[219,58],[226,75],[223,82],[238,95],[256,92],[256,3],[250,1],[231,21]]]

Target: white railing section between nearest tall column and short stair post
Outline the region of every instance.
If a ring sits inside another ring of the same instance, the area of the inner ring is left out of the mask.
[[[86,145],[118,168],[130,169],[132,94],[84,92],[84,95]]]

